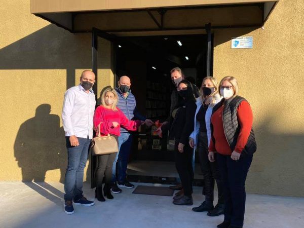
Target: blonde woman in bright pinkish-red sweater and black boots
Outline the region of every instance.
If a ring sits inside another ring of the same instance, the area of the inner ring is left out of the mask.
[[[120,136],[120,127],[136,131],[142,124],[141,121],[128,120],[124,113],[117,107],[118,95],[115,89],[108,88],[103,91],[101,95],[101,105],[99,105],[94,113],[93,123],[94,130],[100,124],[100,134],[102,136],[110,134],[116,138]],[[98,167],[97,167],[97,187],[95,189],[95,197],[98,201],[105,201],[102,196],[102,181],[105,177],[105,184],[103,187],[104,196],[108,199],[113,199],[110,192],[109,183],[112,178],[112,165],[116,158],[117,153],[109,155],[98,155]]]

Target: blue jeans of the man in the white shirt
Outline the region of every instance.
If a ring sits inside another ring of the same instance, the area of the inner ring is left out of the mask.
[[[64,179],[64,200],[78,200],[83,197],[84,168],[86,167],[91,139],[78,138],[79,146],[71,146],[65,137],[67,167]]]

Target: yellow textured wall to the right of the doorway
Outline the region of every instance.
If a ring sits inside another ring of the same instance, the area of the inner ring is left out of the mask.
[[[281,0],[264,29],[214,31],[214,76],[234,75],[254,113],[251,193],[304,196],[303,14],[303,1]],[[240,34],[253,36],[253,49],[231,49]]]

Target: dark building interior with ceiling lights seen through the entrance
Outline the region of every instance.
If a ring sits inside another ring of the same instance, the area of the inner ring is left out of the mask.
[[[137,109],[153,121],[164,122],[169,117],[170,96],[175,89],[170,77],[173,67],[180,67],[185,78],[191,77],[189,81],[198,87],[206,76],[206,35],[129,37],[128,42],[115,46],[117,80],[122,75],[131,78]],[[151,127],[142,126],[134,134],[130,162],[174,161],[166,135],[160,138],[153,131]]]

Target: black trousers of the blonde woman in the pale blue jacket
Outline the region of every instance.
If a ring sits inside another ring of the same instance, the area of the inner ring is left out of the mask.
[[[198,142],[198,154],[201,165],[201,170],[204,175],[204,190],[205,200],[213,201],[214,182],[216,181],[218,189],[218,202],[224,204],[223,182],[220,178],[219,169],[217,167],[216,154],[215,162],[210,162],[208,159],[208,137],[207,132],[200,132]],[[215,181],[214,181],[215,180]]]

